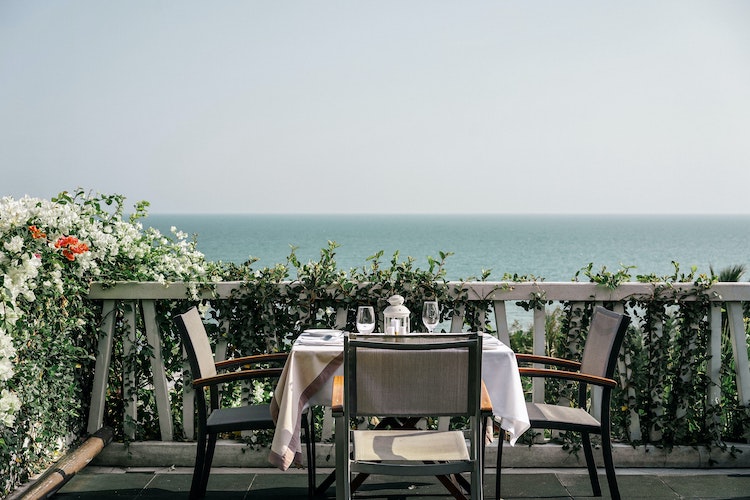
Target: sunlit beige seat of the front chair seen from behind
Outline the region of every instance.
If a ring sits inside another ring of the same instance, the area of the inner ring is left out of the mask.
[[[353,431],[357,461],[457,461],[469,460],[461,431]]]

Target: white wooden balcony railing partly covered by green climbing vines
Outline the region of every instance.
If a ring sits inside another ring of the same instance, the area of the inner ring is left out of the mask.
[[[211,301],[221,301],[231,296],[232,292],[241,287],[240,282],[220,282],[206,287],[202,298]],[[281,284],[280,286],[287,286]],[[172,283],[163,285],[159,283],[117,283],[116,285],[95,283],[92,285],[89,298],[102,300],[102,323],[101,339],[99,343],[96,367],[94,374],[94,386],[91,397],[91,410],[89,414],[88,430],[94,432],[102,426],[105,398],[107,390],[107,374],[109,372],[112,356],[112,347],[115,334],[115,311],[118,302],[129,303],[132,307],[124,308],[125,320],[130,325],[128,332],[123,338],[125,352],[128,352],[136,336],[136,315],[142,316],[145,333],[149,344],[153,347],[151,358],[151,369],[153,375],[155,400],[159,416],[161,438],[165,441],[173,439],[172,418],[169,405],[169,390],[161,354],[161,334],[156,321],[155,301],[160,299],[186,299],[188,297],[189,285],[186,283]],[[625,303],[633,299],[649,299],[662,293],[663,290],[676,292],[680,301],[696,300],[696,295],[691,294],[694,286],[690,283],[624,283],[617,288],[609,289],[594,283],[553,283],[553,282],[470,282],[449,283],[453,293],[465,291],[468,299],[472,301],[491,301],[494,312],[494,324],[501,341],[510,345],[507,304],[517,301],[529,301],[533,298],[542,299],[538,301],[540,306],[533,310],[533,352],[545,354],[545,320],[549,305],[547,301],[554,302],[580,302],[580,303],[607,303],[615,310],[624,311]],[[682,292],[682,293],[681,293]],[[711,337],[708,345],[708,377],[711,380],[706,397],[709,402],[721,400],[721,342],[722,342],[722,309],[727,313],[731,348],[734,355],[736,367],[737,394],[741,403],[750,405],[750,368],[748,368],[747,334],[745,329],[745,318],[743,317],[742,302],[750,301],[750,283],[717,283],[704,291],[703,297],[708,297],[711,306],[709,318],[711,325]],[[337,326],[343,327],[346,323],[347,311],[340,309],[337,312]],[[460,331],[463,326],[461,311],[457,311],[452,318],[451,330]],[[228,328],[227,324],[224,324]],[[217,345],[217,360],[225,356],[226,345]],[[624,366],[621,366],[624,372]],[[135,387],[135,375],[132,371],[123,373],[123,381],[129,387]],[[189,387],[189,384],[185,387]],[[632,389],[631,389],[632,390]],[[133,391],[134,392],[134,391]],[[184,398],[183,427],[186,437],[194,435],[193,400]],[[534,401],[544,400],[543,384],[535,384],[533,387]],[[126,398],[125,401],[125,433],[134,437],[134,429],[128,428],[129,421],[137,422],[137,402],[135,396]],[[639,415],[631,410],[631,426],[629,429],[632,440],[640,440]],[[324,435],[329,424],[324,426]]]

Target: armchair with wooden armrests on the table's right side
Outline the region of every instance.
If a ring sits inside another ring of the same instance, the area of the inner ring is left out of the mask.
[[[591,325],[586,337],[581,362],[549,356],[535,356],[531,354],[516,354],[519,363],[536,363],[552,368],[521,367],[521,376],[551,377],[578,383],[578,401],[576,407],[560,406],[544,403],[526,403],[529,413],[531,429],[557,429],[561,431],[580,432],[583,452],[591,480],[591,488],[595,496],[601,496],[599,478],[596,473],[594,454],[591,448],[591,434],[598,434],[602,438],[602,456],[607,472],[609,491],[613,499],[620,498],[615,476],[615,466],[612,461],[612,443],[610,437],[610,398],[612,388],[617,382],[612,378],[617,364],[620,346],[630,323],[630,317],[618,314],[603,307],[597,307],[591,317]],[[590,391],[589,386],[599,387],[600,390]],[[592,407],[599,408],[599,417],[587,410],[589,401]],[[504,431],[497,452],[496,491],[500,498],[500,471],[502,465],[502,442]]]

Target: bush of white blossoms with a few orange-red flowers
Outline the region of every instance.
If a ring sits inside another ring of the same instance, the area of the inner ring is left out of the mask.
[[[184,233],[123,218],[124,198],[78,190],[0,199],[0,496],[80,433],[96,352],[91,281],[200,281],[210,265]]]

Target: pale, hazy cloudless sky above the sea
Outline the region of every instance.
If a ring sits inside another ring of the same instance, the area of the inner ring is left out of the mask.
[[[0,197],[750,214],[750,2],[0,0]]]

